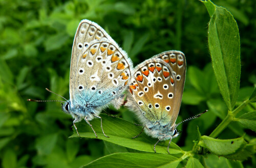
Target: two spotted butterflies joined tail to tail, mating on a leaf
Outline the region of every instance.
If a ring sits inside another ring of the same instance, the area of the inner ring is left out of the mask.
[[[163,52],[133,69],[131,59],[108,33],[97,23],[84,19],[79,23],[73,43],[70,100],[61,101],[65,103],[62,110],[73,116],[76,131],[75,123],[82,119],[94,131],[90,121],[95,117],[101,119],[101,110],[109,104],[118,109],[125,99],[122,92],[128,89],[125,106],[136,112],[144,131],[158,138],[157,143],[171,141],[179,135],[175,122],[185,73],[185,56],[179,51]],[[105,135],[102,119],[101,129]]]

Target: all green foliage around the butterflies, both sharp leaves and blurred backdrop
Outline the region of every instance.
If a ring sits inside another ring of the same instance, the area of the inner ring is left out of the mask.
[[[214,2],[219,6],[184,0],[0,1],[2,167],[253,167],[256,3]],[[26,102],[60,99],[45,87],[69,97],[72,43],[84,18],[102,26],[134,65],[167,50],[186,55],[177,122],[209,111],[181,125],[170,154],[168,141],[154,153],[157,139],[144,133],[132,139],[141,127],[125,108],[104,110],[118,118],[101,114],[110,138],[101,134],[100,119],[91,122],[98,140],[85,122],[77,124],[82,138],[72,135],[72,118],[59,103]]]

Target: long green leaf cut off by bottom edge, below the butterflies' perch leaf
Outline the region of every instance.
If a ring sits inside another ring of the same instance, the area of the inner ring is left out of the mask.
[[[83,167],[170,167],[178,166],[180,160],[168,154],[116,153],[101,157]]]

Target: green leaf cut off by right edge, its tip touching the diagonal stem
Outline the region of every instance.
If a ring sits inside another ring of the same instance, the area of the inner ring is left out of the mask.
[[[237,118],[236,121],[256,132],[256,111],[247,112]]]

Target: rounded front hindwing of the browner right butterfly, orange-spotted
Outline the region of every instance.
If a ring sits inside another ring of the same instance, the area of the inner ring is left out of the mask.
[[[146,60],[135,67],[129,97],[132,96],[131,100],[137,105],[138,116],[144,124],[169,124],[176,97],[176,79],[172,71],[168,64],[158,58]]]

